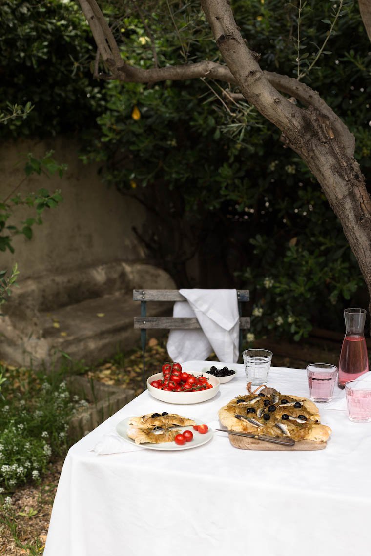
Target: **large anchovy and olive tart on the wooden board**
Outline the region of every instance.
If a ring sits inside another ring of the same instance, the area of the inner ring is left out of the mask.
[[[329,426],[320,424],[313,401],[273,388],[237,396],[219,410],[219,420],[228,430],[286,436],[295,441],[325,442],[331,434]]]

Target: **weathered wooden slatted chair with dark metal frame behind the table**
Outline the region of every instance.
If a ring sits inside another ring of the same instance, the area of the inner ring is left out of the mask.
[[[240,314],[239,349],[241,351],[243,330],[250,328],[250,317],[243,317],[242,304],[249,301],[249,290],[237,290],[238,309]],[[179,290],[133,290],[133,300],[140,301],[140,317],[134,317],[134,328],[140,329],[143,351],[143,389],[146,389],[146,344],[148,329],[197,329],[200,328],[196,317],[147,316],[147,301],[187,301]]]

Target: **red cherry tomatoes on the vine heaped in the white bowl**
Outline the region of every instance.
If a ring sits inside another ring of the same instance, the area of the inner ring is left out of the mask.
[[[160,390],[174,392],[195,392],[212,388],[206,376],[195,376],[183,373],[179,363],[165,363],[162,365],[163,380],[152,380],[151,386]]]

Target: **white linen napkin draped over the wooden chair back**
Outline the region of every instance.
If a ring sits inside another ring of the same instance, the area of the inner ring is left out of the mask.
[[[239,356],[239,312],[236,290],[181,289],[187,302],[174,304],[173,316],[197,317],[201,330],[171,330],[167,353],[173,361],[204,360],[214,351],[219,361]]]

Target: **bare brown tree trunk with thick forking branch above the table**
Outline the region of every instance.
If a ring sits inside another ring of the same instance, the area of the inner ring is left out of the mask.
[[[250,51],[236,25],[229,0],[200,0],[226,66],[203,61],[184,66],[142,69],[123,62],[96,0],[79,0],[100,54],[111,75],[124,82],[157,82],[212,77],[238,85],[244,98],[282,132],[319,181],[342,223],[371,297],[371,201],[364,176],[354,159],[354,136],[332,109],[303,83],[263,72],[259,54]],[[371,0],[359,0],[369,36]],[[296,106],[280,92],[295,97]],[[370,305],[371,309],[371,305]]]

